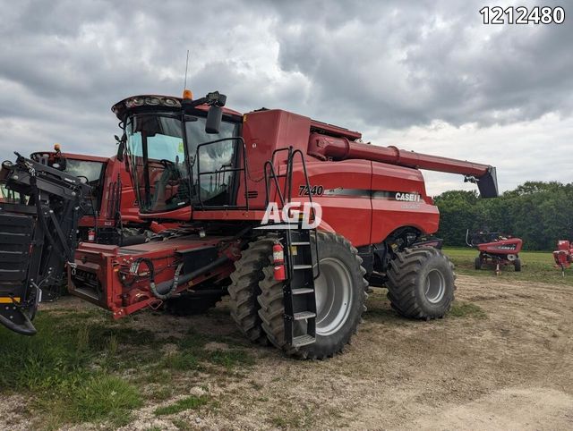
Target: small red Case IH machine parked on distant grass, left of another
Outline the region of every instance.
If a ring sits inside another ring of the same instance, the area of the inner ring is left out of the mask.
[[[512,238],[500,232],[477,232],[468,241],[469,230],[466,232],[468,246],[478,249],[479,256],[475,258],[475,269],[482,269],[483,265],[495,265],[495,273],[500,274],[500,266],[513,265],[518,272],[521,271],[519,251],[523,241]]]

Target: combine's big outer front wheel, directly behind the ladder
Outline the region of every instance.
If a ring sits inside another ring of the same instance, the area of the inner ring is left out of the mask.
[[[316,295],[316,342],[291,347],[285,340],[283,283],[273,276],[273,267],[264,268],[259,316],[262,328],[278,349],[302,359],[325,359],[342,351],[356,333],[366,310],[368,282],[362,258],[350,242],[329,232],[317,233],[321,275],[314,282]],[[303,323],[300,323],[304,325]]]

